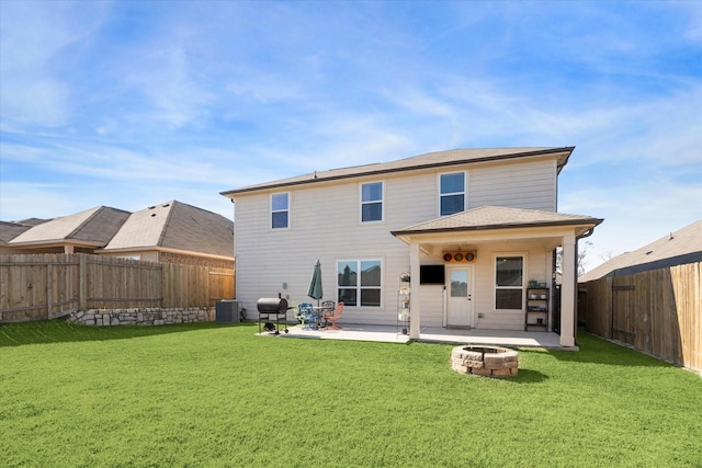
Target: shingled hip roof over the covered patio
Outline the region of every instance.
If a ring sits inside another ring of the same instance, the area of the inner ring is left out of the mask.
[[[401,237],[417,233],[438,233],[450,231],[510,229],[547,226],[584,226],[581,235],[602,222],[590,216],[566,215],[537,209],[507,208],[502,206],[480,206],[455,215],[420,222],[393,231]]]

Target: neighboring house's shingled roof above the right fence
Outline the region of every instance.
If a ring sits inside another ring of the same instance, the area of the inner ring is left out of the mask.
[[[578,277],[578,282],[586,283],[603,276],[630,275],[700,261],[702,261],[702,219],[641,249],[622,253],[602,263]]]

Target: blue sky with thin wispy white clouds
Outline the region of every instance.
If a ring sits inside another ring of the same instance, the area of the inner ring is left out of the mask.
[[[702,218],[699,1],[0,0],[0,219],[576,146],[586,267]]]

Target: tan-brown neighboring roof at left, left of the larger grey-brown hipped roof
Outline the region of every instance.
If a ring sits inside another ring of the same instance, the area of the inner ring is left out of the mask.
[[[14,247],[58,244],[103,247],[128,216],[128,212],[99,206],[36,225],[12,239],[8,244]]]

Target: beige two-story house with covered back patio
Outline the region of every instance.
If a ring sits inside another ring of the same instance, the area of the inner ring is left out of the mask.
[[[235,202],[237,299],[310,301],[319,260],[324,298],[344,301],[347,323],[409,311],[412,339],[423,327],[533,326],[574,346],[577,240],[602,219],[557,212],[573,150],[456,149],[223,192]]]

